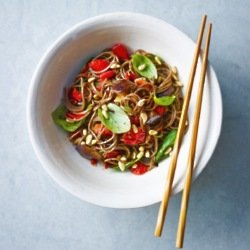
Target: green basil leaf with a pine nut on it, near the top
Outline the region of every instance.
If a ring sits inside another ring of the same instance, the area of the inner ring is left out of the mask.
[[[135,71],[148,79],[156,79],[157,78],[157,69],[154,63],[146,56],[140,54],[132,55],[132,64]],[[143,69],[140,69],[144,65]]]

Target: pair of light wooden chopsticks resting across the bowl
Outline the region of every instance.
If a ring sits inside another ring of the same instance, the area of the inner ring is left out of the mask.
[[[207,19],[207,16],[204,15],[201,21],[200,31],[199,31],[194,58],[193,58],[191,71],[189,75],[186,96],[185,96],[184,103],[183,103],[183,108],[182,108],[181,118],[180,118],[179,127],[177,131],[177,136],[175,140],[175,145],[174,145],[174,149],[172,153],[172,158],[171,158],[170,166],[168,169],[167,180],[166,180],[165,189],[164,189],[164,196],[163,196],[160,209],[159,209],[159,213],[158,213],[158,219],[157,219],[156,228],[155,228],[155,236],[158,236],[158,237],[161,236],[161,233],[162,233],[162,229],[163,229],[163,225],[164,225],[164,221],[166,217],[166,211],[168,207],[168,202],[169,202],[169,198],[171,195],[178,154],[180,151],[181,142],[182,142],[182,138],[184,135],[185,122],[187,120],[187,112],[188,112],[190,97],[192,94],[192,88],[193,88],[193,82],[194,82],[195,72],[197,68],[197,62],[198,62],[199,54],[201,52],[201,43],[202,43],[203,33],[204,33],[205,25],[206,25],[206,19]],[[192,128],[192,138],[191,138],[191,144],[189,148],[189,155],[188,155],[188,162],[187,162],[187,169],[186,169],[186,176],[185,176],[185,184],[184,184],[184,189],[182,193],[181,210],[180,210],[179,224],[178,224],[177,236],[176,236],[177,248],[183,247],[187,209],[188,209],[188,200],[189,200],[189,194],[190,194],[191,183],[192,183],[193,165],[194,165],[194,159],[195,159],[196,142],[197,142],[199,119],[200,119],[201,104],[202,104],[202,95],[203,95],[205,75],[206,75],[206,70],[207,70],[207,59],[208,59],[211,31],[212,31],[212,24],[209,23],[206,42],[205,42],[205,50],[203,53],[202,70],[201,70],[201,76],[200,76],[200,81],[199,81],[198,96],[196,100],[195,115],[194,115],[194,122],[193,122],[193,128]]]

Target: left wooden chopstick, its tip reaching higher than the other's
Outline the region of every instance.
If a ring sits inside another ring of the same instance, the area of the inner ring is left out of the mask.
[[[196,43],[196,48],[195,48],[195,53],[194,53],[194,58],[191,66],[191,71],[189,75],[189,80],[188,80],[188,86],[187,86],[187,91],[185,93],[185,98],[184,98],[184,103],[183,103],[183,108],[182,108],[182,113],[181,113],[181,118],[178,126],[178,131],[177,131],[177,136],[175,140],[175,145],[172,153],[172,158],[170,162],[170,166],[168,169],[168,174],[167,174],[167,179],[166,179],[166,184],[165,184],[165,189],[164,189],[164,195],[163,199],[160,205],[159,213],[158,213],[158,218],[156,222],[156,227],[155,227],[155,236],[160,237],[162,233],[162,228],[164,225],[165,217],[166,217],[166,211],[168,207],[168,201],[169,197],[171,195],[171,190],[172,190],[172,184],[173,184],[173,179],[174,179],[174,174],[175,174],[175,169],[176,169],[176,163],[177,163],[177,158],[181,146],[181,141],[185,129],[185,122],[187,119],[187,111],[188,111],[188,106],[189,106],[189,101],[190,101],[190,96],[192,93],[192,88],[193,88],[193,82],[194,82],[194,76],[195,76],[195,71],[197,67],[197,62],[198,62],[198,57],[200,54],[200,47],[201,47],[201,42],[202,42],[202,37],[204,33],[204,28],[206,24],[206,19],[207,16],[204,15],[202,17],[201,21],[201,26],[200,26],[200,31]]]

